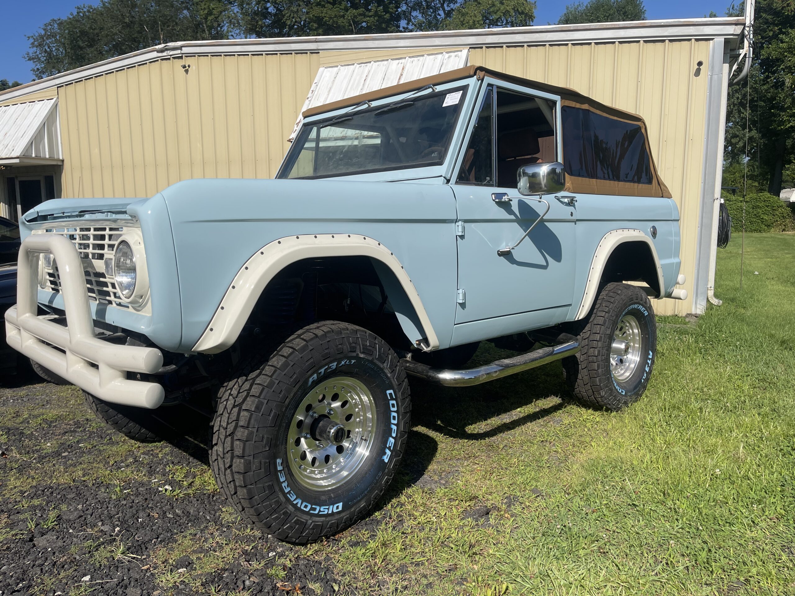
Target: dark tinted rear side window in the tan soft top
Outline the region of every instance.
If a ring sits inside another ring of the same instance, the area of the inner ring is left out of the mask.
[[[651,184],[643,130],[580,107],[562,106],[566,173],[595,180]]]

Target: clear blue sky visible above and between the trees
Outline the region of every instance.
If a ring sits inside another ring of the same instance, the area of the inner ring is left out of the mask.
[[[83,0],[86,2],[86,0]],[[0,0],[0,14],[4,26],[0,35],[0,79],[28,83],[33,79],[30,63],[23,55],[28,51],[26,35],[51,18],[66,17],[80,0],[28,0],[13,2]],[[568,0],[572,2],[572,0]],[[92,2],[86,2],[92,3]],[[567,2],[537,0],[536,25],[554,23]],[[723,15],[731,0],[646,0],[646,13],[650,19],[704,17],[710,10]]]

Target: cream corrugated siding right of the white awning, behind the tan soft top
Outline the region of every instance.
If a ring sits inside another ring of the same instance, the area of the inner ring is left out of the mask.
[[[602,103],[640,114],[654,161],[681,216],[684,288],[692,296],[703,168],[709,41],[471,48],[470,64],[572,87]],[[689,300],[661,300],[657,314],[684,315]]]

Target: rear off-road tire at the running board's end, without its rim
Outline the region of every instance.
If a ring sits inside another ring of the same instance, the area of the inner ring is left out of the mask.
[[[624,316],[638,321],[641,358],[631,377],[619,381],[611,370],[611,346]],[[630,284],[605,285],[581,324],[579,339],[580,351],[563,361],[566,381],[576,399],[618,411],[642,396],[657,354],[657,323],[646,292]]]

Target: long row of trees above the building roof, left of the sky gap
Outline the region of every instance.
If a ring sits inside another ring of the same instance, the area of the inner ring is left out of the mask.
[[[25,58],[41,78],[170,41],[526,26],[535,10],[534,0],[99,0],[41,25]]]

